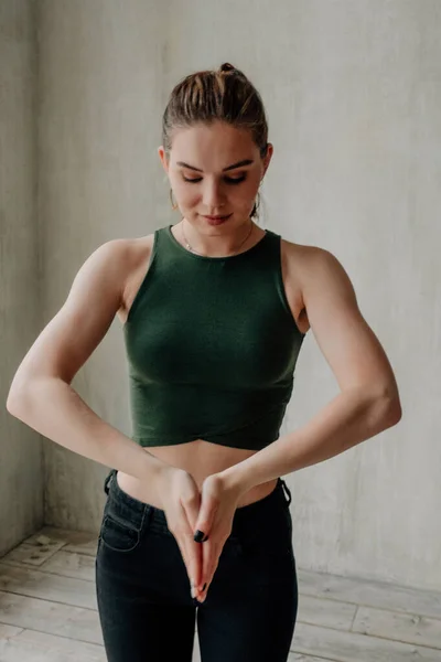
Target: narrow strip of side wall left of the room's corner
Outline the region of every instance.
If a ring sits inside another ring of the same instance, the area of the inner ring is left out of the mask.
[[[42,523],[42,447],[4,407],[40,327],[34,3],[0,2],[0,555]]]

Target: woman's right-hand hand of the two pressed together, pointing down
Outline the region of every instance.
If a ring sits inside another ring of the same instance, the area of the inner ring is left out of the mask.
[[[200,584],[196,585],[200,602],[206,598],[224,544],[232,533],[233,519],[241,493],[237,484],[228,483],[218,473],[208,476],[202,484],[201,508],[197,509],[194,528],[195,540],[203,543],[200,544],[202,567]]]

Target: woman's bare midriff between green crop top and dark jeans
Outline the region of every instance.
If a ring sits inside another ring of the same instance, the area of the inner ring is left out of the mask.
[[[219,446],[204,439],[196,439],[187,444],[174,446],[153,446],[144,450],[168,465],[187,471],[193,477],[200,490],[205,478],[228,469],[256,452],[255,450]],[[129,473],[122,473],[121,471],[118,471],[117,480],[121,490],[133,499],[149,503],[154,508],[160,508],[160,504],[155,503],[153,490],[149,490],[149,485],[146,482],[141,482],[138,478]],[[272,492],[276,483],[277,479],[272,479],[269,482],[254,485],[241,495],[237,508],[263,499]]]

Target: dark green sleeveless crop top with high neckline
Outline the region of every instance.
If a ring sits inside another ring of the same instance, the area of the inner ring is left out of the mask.
[[[267,229],[245,253],[205,257],[171,227],[154,233],[123,325],[132,439],[260,450],[280,436],[304,340],[286,298],[281,237]]]

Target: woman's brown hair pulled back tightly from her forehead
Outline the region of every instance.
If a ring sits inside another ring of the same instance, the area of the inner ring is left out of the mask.
[[[218,71],[190,74],[174,86],[162,116],[165,153],[170,153],[174,129],[216,120],[249,130],[260,156],[266,156],[268,124],[261,97],[246,75],[228,62]],[[251,216],[256,212],[255,205]]]

